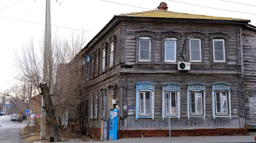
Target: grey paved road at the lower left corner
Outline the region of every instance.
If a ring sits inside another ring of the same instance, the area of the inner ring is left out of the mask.
[[[0,143],[24,143],[19,140],[18,133],[26,123],[11,121],[11,115],[0,116]]]

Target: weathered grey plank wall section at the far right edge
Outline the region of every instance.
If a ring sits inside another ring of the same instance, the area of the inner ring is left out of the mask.
[[[256,31],[243,27],[245,125],[256,129]]]

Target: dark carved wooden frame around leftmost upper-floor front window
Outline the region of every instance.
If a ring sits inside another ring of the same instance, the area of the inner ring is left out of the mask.
[[[150,38],[151,47],[150,47],[150,60],[149,61],[140,61],[139,60],[139,43],[140,39]],[[155,41],[155,32],[149,31],[148,28],[143,28],[141,31],[136,31],[136,64],[154,64],[154,41]]]

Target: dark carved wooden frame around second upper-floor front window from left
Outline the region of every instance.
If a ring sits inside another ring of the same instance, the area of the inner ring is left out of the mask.
[[[164,31],[161,32],[162,38],[162,64],[177,64],[180,59],[180,33],[175,31]],[[165,62],[165,42],[166,40],[175,40],[176,41],[176,57],[175,62]]]

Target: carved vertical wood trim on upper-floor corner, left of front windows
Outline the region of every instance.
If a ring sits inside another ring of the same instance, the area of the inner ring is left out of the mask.
[[[120,63],[125,63],[126,27],[127,27],[126,22],[121,22]]]

